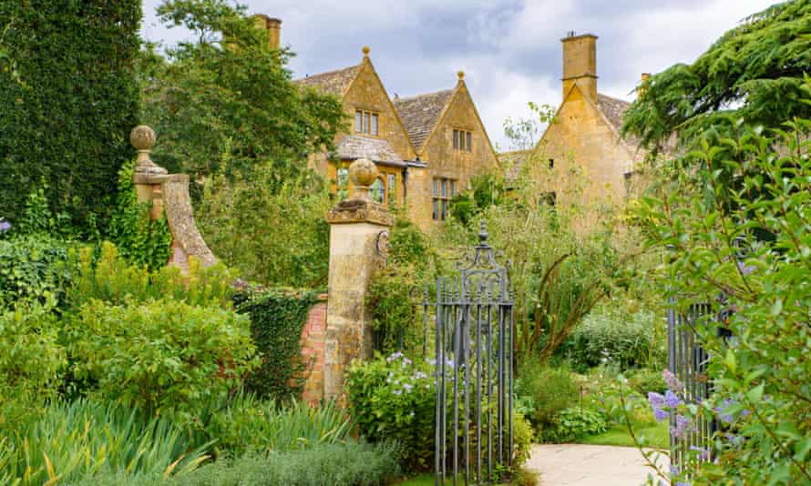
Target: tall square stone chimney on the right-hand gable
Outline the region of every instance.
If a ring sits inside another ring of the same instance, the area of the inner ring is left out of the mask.
[[[563,44],[563,96],[578,85],[585,96],[597,101],[597,35],[569,35]]]

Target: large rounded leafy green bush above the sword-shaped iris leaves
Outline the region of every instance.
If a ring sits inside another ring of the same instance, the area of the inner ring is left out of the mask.
[[[98,383],[98,395],[191,420],[258,364],[247,320],[172,299],[128,307],[92,299],[66,339],[77,379]]]

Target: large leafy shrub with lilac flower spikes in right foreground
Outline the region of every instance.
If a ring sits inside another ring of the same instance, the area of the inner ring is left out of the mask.
[[[809,78],[806,90],[811,101]],[[660,471],[660,478],[809,484],[811,120],[788,122],[774,137],[734,129],[724,149],[695,154],[702,187],[681,177],[662,199],[645,198],[635,210],[648,243],[670,253],[661,289],[676,310],[712,299],[723,311],[695,324],[696,340],[710,356],[709,399],[680,403],[676,382],[668,384],[675,399],[652,395],[655,409],[676,414],[674,435],[689,432],[699,415],[720,420],[713,440],[691,451],[712,461],[675,475]],[[726,171],[738,187],[730,187]]]

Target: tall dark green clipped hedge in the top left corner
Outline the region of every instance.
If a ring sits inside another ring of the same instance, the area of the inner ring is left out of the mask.
[[[132,153],[141,2],[3,0],[0,19],[14,66],[0,70],[3,216],[21,218],[44,178],[50,207],[85,228],[109,215]]]

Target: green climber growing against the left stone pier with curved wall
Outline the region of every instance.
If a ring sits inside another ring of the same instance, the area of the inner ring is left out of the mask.
[[[130,160],[118,171],[118,196],[109,237],[130,264],[156,270],[169,261],[172,236],[165,217],[150,220],[151,203],[139,204],[132,185],[134,164]]]

